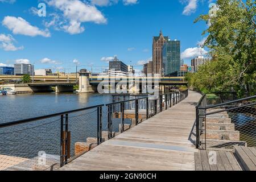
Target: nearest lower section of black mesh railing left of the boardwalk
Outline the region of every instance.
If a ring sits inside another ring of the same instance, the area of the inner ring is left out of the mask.
[[[103,106],[1,123],[0,170],[45,170],[56,164],[61,167],[85,151],[76,148],[77,142],[91,137],[100,144]]]

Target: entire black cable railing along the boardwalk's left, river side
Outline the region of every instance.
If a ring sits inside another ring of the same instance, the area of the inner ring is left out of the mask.
[[[106,105],[0,123],[0,171],[63,167],[187,96],[188,90],[159,96],[119,94]]]

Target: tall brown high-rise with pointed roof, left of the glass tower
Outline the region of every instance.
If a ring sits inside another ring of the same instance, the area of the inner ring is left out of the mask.
[[[164,43],[169,40],[168,36],[163,36],[162,31],[160,31],[159,36],[154,36],[153,38],[153,74],[155,76],[163,75],[163,60],[162,60],[162,49]]]

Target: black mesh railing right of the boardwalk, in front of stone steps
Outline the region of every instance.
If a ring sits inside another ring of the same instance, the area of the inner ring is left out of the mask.
[[[213,93],[214,94],[214,93]],[[196,106],[196,147],[256,146],[256,96],[209,105],[204,94]],[[212,96],[212,93],[210,93]]]

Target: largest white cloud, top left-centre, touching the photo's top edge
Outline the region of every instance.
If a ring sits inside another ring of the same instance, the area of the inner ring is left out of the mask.
[[[58,26],[69,34],[80,34],[85,28],[84,22],[97,24],[106,23],[104,15],[94,5],[79,0],[49,0],[49,6],[53,6],[63,13],[63,20],[59,20]]]

